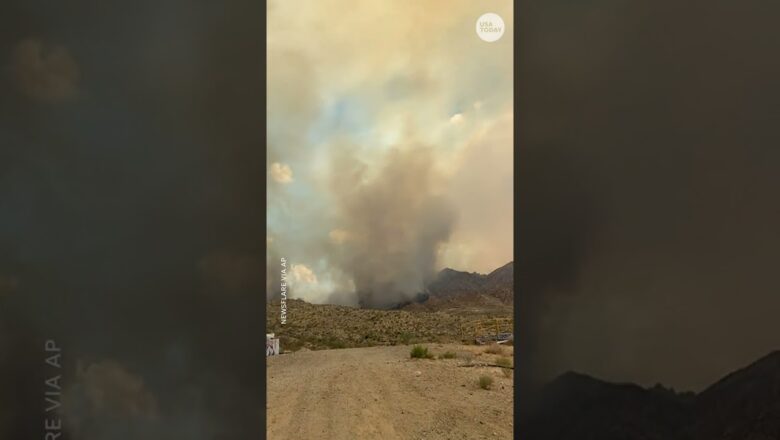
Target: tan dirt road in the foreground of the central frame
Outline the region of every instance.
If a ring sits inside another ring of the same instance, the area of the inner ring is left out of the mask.
[[[410,359],[408,346],[268,358],[268,438],[511,439],[512,379],[496,367],[459,366],[467,352],[474,364],[495,356],[483,347],[427,346],[459,358]],[[481,375],[494,379],[491,389],[478,386]]]

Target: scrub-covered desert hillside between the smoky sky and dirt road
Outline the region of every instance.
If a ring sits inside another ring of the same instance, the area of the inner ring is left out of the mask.
[[[513,264],[489,274],[444,269],[416,301],[388,310],[287,301],[287,323],[279,300],[267,303],[267,331],[283,350],[370,347],[416,342],[473,343],[475,321],[511,317]]]

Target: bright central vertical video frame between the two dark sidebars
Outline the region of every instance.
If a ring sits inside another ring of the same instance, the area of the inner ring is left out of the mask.
[[[513,437],[513,5],[268,5],[267,434]]]

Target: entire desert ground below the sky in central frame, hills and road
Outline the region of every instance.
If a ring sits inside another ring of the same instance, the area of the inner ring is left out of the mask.
[[[475,345],[511,321],[509,275],[444,271],[429,301],[393,310],[289,299],[284,325],[268,302],[268,438],[513,438],[512,370],[495,363],[512,348]]]

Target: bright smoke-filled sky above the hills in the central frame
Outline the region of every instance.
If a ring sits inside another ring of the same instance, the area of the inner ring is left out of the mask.
[[[512,2],[272,2],[268,283],[386,307],[512,261]],[[333,23],[338,23],[334,26]]]

